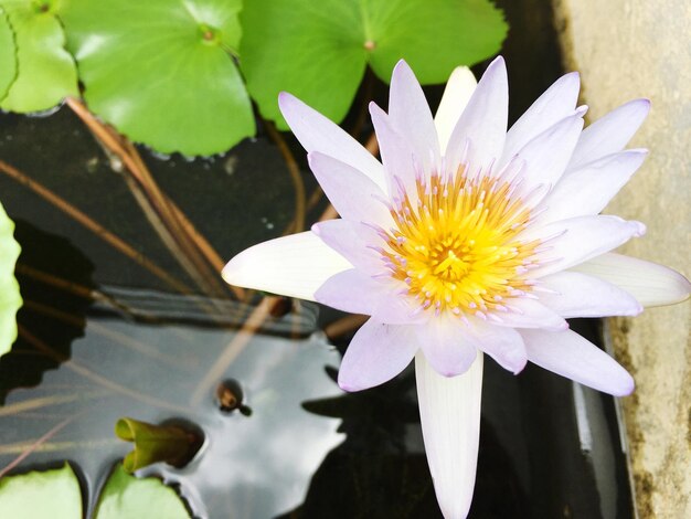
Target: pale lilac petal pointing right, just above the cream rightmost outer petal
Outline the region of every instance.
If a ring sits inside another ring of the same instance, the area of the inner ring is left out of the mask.
[[[599,256],[634,236],[641,236],[646,226],[636,221],[618,216],[576,216],[548,223],[521,233],[521,240],[542,239],[540,266],[528,276],[542,277]]]

